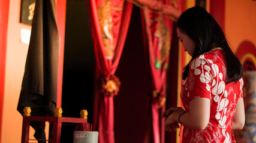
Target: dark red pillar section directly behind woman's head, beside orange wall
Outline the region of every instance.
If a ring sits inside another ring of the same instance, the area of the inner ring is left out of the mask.
[[[215,18],[223,32],[225,31],[225,0],[210,1],[210,14]]]

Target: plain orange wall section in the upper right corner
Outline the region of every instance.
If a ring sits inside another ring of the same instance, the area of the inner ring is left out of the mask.
[[[256,1],[225,0],[225,33],[234,52],[243,41],[256,46]]]

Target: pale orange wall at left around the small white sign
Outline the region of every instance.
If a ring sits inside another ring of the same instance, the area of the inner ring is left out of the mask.
[[[21,141],[22,115],[16,108],[25,70],[28,45],[20,42],[20,29],[25,28],[30,30],[31,26],[19,23],[19,14],[20,0],[10,0],[1,129],[2,143]]]

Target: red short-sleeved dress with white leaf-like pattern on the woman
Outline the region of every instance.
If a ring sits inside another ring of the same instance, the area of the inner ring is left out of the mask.
[[[182,142],[236,142],[231,132],[238,98],[243,98],[243,79],[225,84],[225,57],[221,48],[195,58],[182,83],[181,100],[186,111],[194,98],[210,99],[210,120],[203,130],[184,126]]]

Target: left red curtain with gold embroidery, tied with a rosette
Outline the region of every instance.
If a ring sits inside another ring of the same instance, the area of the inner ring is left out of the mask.
[[[113,143],[114,105],[120,82],[115,71],[124,48],[132,3],[122,0],[90,0],[89,15],[97,67],[104,76],[98,107],[99,143]],[[99,90],[99,89],[98,89]]]

